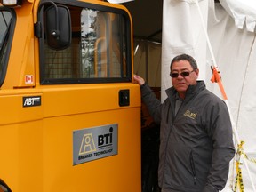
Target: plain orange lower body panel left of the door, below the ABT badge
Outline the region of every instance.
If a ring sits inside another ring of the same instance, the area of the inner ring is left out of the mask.
[[[12,191],[42,191],[42,121],[0,126],[0,177]]]

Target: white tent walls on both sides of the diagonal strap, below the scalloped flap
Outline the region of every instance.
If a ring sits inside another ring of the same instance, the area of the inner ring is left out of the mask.
[[[234,120],[236,132],[239,139],[244,140],[244,153],[248,158],[256,159],[256,33],[248,28],[237,28],[234,17],[222,4],[204,0],[200,1],[199,5],[228,96],[230,115]],[[199,78],[204,79],[210,91],[222,98],[218,84],[210,81],[212,55],[207,48],[196,4],[164,0],[162,42],[162,100],[166,98],[164,90],[172,85],[169,76],[170,62],[174,56],[184,52],[196,58],[200,69]],[[249,172],[252,178],[255,178],[256,164],[245,158],[243,160],[248,163]],[[245,168],[243,164],[244,191],[253,191],[249,172]],[[234,187],[235,180],[236,170],[232,162],[228,184],[222,191],[232,191],[230,186]],[[253,184],[255,187],[254,179]]]

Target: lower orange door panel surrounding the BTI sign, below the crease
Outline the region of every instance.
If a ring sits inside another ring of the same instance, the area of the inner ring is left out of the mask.
[[[140,118],[131,119],[134,115],[140,116],[136,108],[45,119],[45,191],[140,191]],[[130,124],[124,116],[131,116]],[[117,119],[118,155],[73,166],[72,131]]]

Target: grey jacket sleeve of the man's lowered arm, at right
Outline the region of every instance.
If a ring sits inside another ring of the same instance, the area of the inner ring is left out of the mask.
[[[235,155],[232,125],[228,108],[223,100],[215,102],[207,109],[206,114],[206,118],[209,119],[206,131],[212,139],[213,152],[212,167],[203,191],[219,191],[226,185],[229,162]]]

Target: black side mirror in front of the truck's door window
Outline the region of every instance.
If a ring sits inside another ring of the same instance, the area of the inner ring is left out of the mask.
[[[49,47],[63,50],[71,44],[71,17],[68,7],[50,6],[45,11],[46,41]]]

